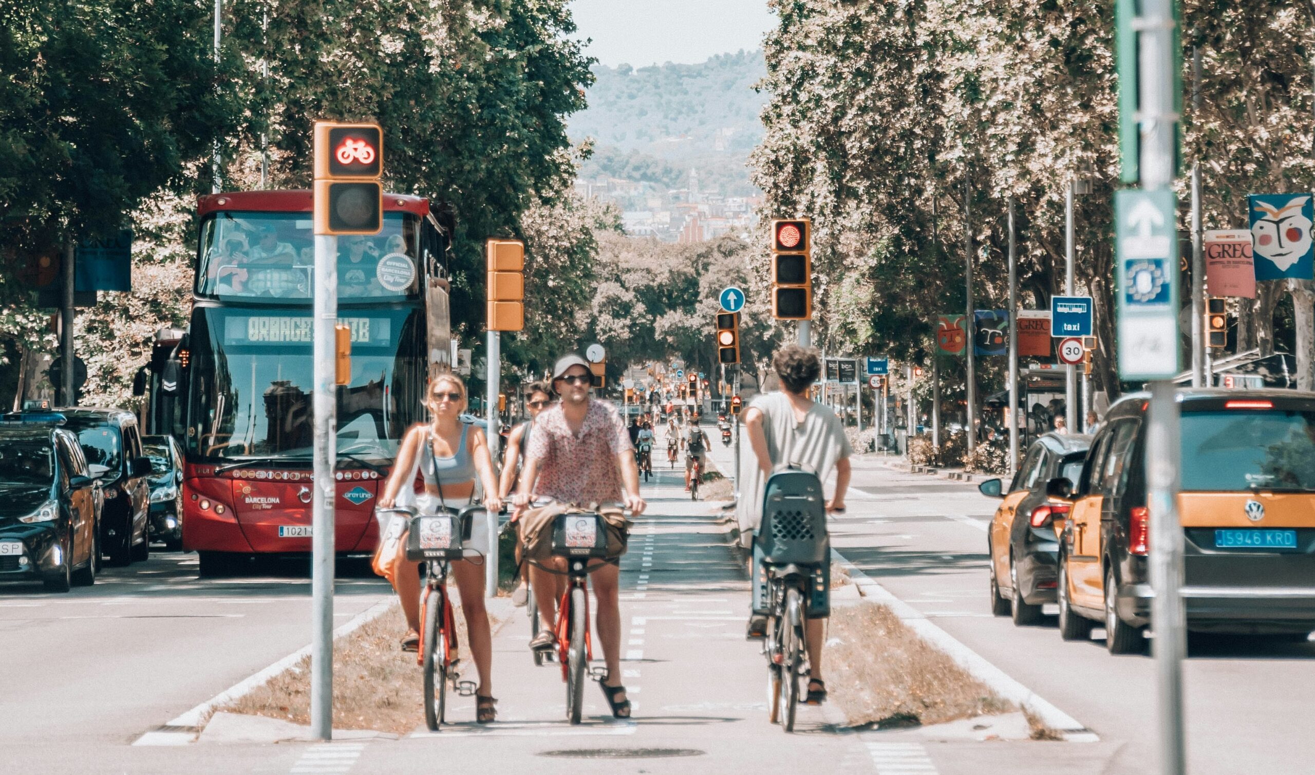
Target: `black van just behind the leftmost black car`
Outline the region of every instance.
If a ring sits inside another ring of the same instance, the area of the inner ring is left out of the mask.
[[[114,566],[150,557],[147,517],[151,462],[142,454],[137,416],[124,409],[70,407],[57,409],[64,428],[78,434],[91,475],[100,480],[105,509],[100,546]]]

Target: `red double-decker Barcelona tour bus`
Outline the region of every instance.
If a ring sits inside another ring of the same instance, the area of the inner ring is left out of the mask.
[[[316,283],[309,191],[203,196],[197,214],[191,326],[153,380],[151,414],[185,451],[183,547],[204,576],[310,551]],[[427,378],[451,366],[450,234],[429,200],[389,193],[379,234],[338,239],[352,342],[351,383],[337,388],[339,555],[375,550],[375,499],[425,418]]]

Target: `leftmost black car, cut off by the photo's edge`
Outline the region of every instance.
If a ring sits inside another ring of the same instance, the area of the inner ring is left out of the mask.
[[[103,503],[62,422],[46,411],[0,420],[0,580],[41,579],[57,592],[96,582]]]

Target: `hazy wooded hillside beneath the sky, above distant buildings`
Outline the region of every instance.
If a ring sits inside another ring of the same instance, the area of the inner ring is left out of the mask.
[[[593,67],[588,108],[571,117],[572,139],[592,137],[596,153],[581,168],[661,188],[698,186],[723,196],[751,196],[748,153],[763,137],[767,95],[753,84],[767,70],[760,50],[722,54],[698,64]]]

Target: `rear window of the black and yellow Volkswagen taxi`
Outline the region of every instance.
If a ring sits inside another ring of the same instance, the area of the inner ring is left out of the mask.
[[[1315,412],[1182,414],[1182,489],[1315,489]]]

